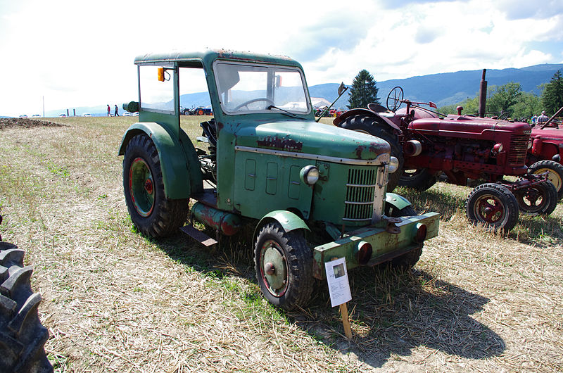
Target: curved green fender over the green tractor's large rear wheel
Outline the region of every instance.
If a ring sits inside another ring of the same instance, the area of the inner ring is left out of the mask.
[[[156,122],[135,123],[123,135],[118,156],[124,155],[129,140],[141,133],[151,137],[156,146],[167,198],[189,198],[193,192],[203,191],[194,144],[191,144],[189,137],[182,130],[182,141],[179,141],[166,127]]]

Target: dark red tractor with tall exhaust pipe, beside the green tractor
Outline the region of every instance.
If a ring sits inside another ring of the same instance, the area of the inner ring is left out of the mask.
[[[406,104],[406,108],[400,106]],[[530,215],[549,215],[557,207],[557,189],[545,174],[534,175],[526,167],[531,127],[524,122],[493,118],[443,115],[436,104],[403,99],[395,87],[387,96],[387,107],[348,110],[334,125],[367,132],[385,139],[403,172],[389,180],[396,185],[425,190],[442,174],[453,184],[468,179],[484,180],[466,201],[472,222],[508,231],[516,225],[519,210]],[[516,176],[516,181],[503,179]]]

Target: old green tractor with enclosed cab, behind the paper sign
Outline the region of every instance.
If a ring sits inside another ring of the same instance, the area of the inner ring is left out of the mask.
[[[315,122],[303,68],[291,58],[207,50],[134,63],[139,100],[123,107],[138,111],[139,122],[119,155],[129,215],[142,234],[181,229],[212,245],[191,222],[227,236],[252,224],[258,284],[286,310],[305,306],[324,263],[412,267],[438,234],[437,213],[416,215],[405,198],[386,194],[398,166],[386,141]],[[205,151],[180,127],[179,96],[194,71],[214,114],[201,123]]]

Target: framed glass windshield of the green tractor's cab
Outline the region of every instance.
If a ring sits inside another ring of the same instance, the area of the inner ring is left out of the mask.
[[[284,110],[305,114],[310,110],[303,75],[297,68],[220,61],[214,70],[225,113]]]

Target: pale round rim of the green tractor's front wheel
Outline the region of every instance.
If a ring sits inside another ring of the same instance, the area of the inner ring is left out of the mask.
[[[277,298],[284,295],[289,272],[284,251],[277,241],[267,240],[260,249],[260,275],[267,291]]]

